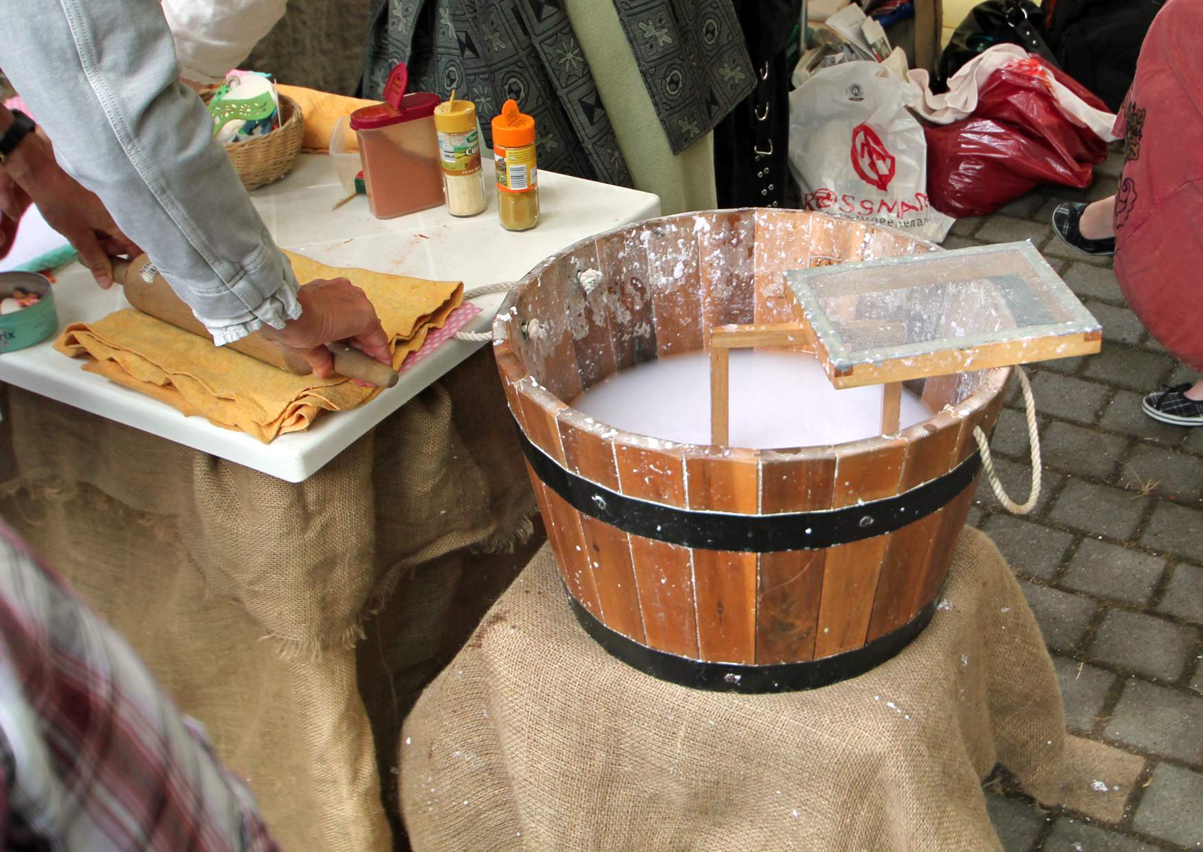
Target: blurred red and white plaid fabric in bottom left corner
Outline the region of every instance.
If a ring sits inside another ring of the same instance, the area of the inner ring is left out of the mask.
[[[2,524],[0,848],[277,848],[200,725]]]

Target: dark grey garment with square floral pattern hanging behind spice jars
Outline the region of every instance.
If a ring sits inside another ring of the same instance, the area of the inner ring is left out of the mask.
[[[539,166],[630,186],[630,172],[559,0],[372,0],[365,95],[403,61],[410,89],[476,103],[512,97],[538,127]],[[730,0],[614,0],[674,151],[709,132],[753,85]]]

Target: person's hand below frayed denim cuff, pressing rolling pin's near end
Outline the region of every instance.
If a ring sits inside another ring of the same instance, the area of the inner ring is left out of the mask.
[[[301,302],[300,318],[279,329],[265,327],[259,334],[275,346],[303,354],[315,376],[326,379],[334,371],[334,357],[325,344],[336,340],[345,340],[377,361],[392,365],[389,338],[375,308],[363,291],[345,278],[318,279],[302,285],[297,290],[297,299]]]

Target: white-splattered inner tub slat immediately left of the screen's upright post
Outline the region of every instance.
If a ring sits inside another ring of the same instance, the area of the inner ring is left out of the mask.
[[[660,356],[703,348],[701,286],[698,240],[692,220],[650,226],[647,282],[656,312],[656,346]]]

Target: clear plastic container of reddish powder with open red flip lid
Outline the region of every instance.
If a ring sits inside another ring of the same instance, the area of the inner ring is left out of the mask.
[[[358,137],[368,207],[377,219],[392,219],[443,203],[434,107],[439,96],[405,94],[409,73],[397,65],[384,88],[384,103],[351,113]]]

